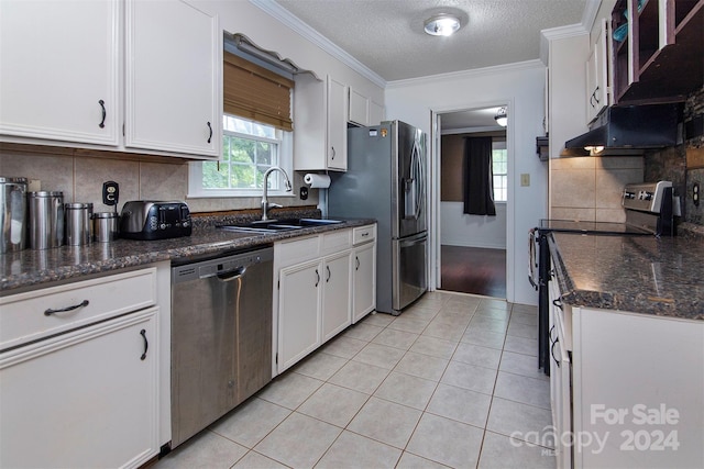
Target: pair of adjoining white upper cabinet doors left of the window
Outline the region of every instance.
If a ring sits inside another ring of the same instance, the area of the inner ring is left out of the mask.
[[[0,66],[0,139],[220,156],[222,33],[182,0],[3,0]]]

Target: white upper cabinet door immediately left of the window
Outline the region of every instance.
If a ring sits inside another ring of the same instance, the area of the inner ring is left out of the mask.
[[[129,0],[125,146],[219,157],[221,33],[182,1]]]

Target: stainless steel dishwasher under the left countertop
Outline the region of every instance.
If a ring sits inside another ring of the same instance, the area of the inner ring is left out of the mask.
[[[272,379],[274,248],[172,265],[172,448]]]

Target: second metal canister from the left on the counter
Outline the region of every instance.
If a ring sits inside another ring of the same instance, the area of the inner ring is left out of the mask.
[[[64,192],[28,192],[30,248],[48,249],[64,244]]]

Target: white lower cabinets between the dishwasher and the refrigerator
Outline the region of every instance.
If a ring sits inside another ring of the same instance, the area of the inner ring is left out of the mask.
[[[369,225],[274,244],[274,376],[374,310],[375,232]]]

